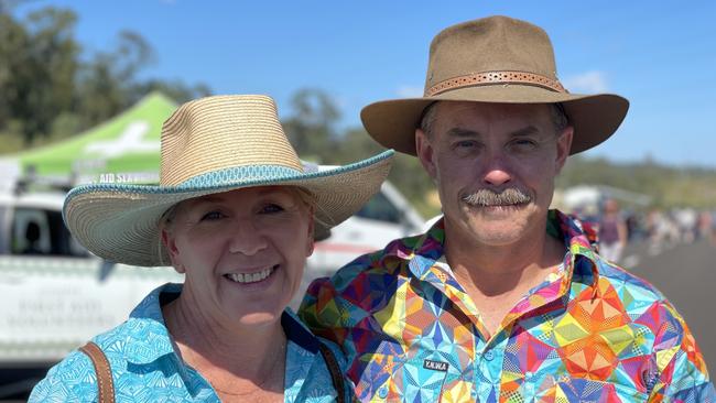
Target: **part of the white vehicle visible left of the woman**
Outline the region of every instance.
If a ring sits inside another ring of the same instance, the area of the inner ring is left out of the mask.
[[[64,193],[0,194],[0,401],[21,400],[47,369],[124,322],[172,268],[110,264],[62,219]]]

